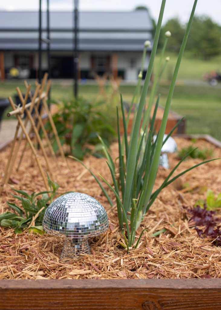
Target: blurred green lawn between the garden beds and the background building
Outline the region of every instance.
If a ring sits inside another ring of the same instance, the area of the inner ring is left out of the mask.
[[[173,56],[171,64],[175,64],[175,56]],[[180,67],[180,79],[194,80],[201,79],[202,73],[216,69],[218,59],[214,58],[210,62],[200,60],[187,59],[184,57]],[[158,61],[158,56],[156,58]],[[187,74],[187,72],[189,72]],[[31,82],[33,84],[33,81]],[[21,81],[6,81],[0,83],[0,97],[8,97],[15,94],[15,87],[20,85],[21,91],[24,91],[24,86]],[[169,88],[168,82],[163,82],[159,88],[161,93],[160,104],[165,105],[167,91]],[[110,91],[109,86],[106,87],[107,92]],[[121,85],[119,92],[122,93],[123,100],[130,102],[135,86]],[[147,98],[150,95],[148,90]],[[80,85],[79,95],[89,100],[95,100],[98,97],[98,86],[96,85]],[[68,100],[73,97],[73,86],[71,81],[64,81],[58,84],[53,81],[51,87],[51,98],[56,100]],[[112,108],[109,108],[110,113],[115,113],[115,105],[119,101],[119,94],[116,96],[116,101],[112,103]],[[221,140],[221,88],[220,85],[211,87],[209,84],[203,86],[185,86],[181,81],[175,87],[171,110],[184,115],[187,119],[186,133],[191,134],[210,134],[213,137]],[[113,115],[113,114],[112,114]]]

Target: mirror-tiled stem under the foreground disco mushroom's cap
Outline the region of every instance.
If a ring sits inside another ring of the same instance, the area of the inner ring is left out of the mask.
[[[79,256],[80,253],[90,253],[88,238],[65,238],[61,258],[74,258]]]

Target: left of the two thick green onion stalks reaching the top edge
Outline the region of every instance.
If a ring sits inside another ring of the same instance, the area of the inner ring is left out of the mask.
[[[126,175],[126,184],[125,184],[125,193],[124,193],[124,206],[125,206],[126,212],[128,211],[128,208],[130,206],[130,197],[131,197],[131,190],[132,190],[132,184],[133,184],[134,169],[136,166],[137,143],[138,143],[138,136],[139,136],[139,131],[140,131],[142,112],[143,112],[145,98],[146,98],[146,94],[147,94],[147,90],[148,90],[148,86],[150,82],[150,76],[151,76],[153,65],[154,65],[154,58],[156,55],[156,50],[157,50],[157,45],[158,45],[158,39],[159,39],[159,34],[160,34],[160,29],[161,29],[161,24],[162,24],[162,19],[163,19],[163,11],[165,7],[165,2],[166,0],[162,1],[161,8],[160,8],[159,19],[158,19],[156,33],[154,37],[152,52],[150,55],[149,66],[147,69],[144,86],[143,86],[142,93],[141,93],[141,99],[140,99],[140,103],[139,103],[138,110],[137,110],[134,130],[132,133],[130,148],[128,152],[127,175]]]

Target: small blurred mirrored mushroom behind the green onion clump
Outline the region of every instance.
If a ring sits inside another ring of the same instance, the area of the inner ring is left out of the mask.
[[[156,135],[153,136],[153,141],[156,140]],[[163,141],[167,138],[167,135],[163,136]],[[177,145],[175,140],[172,137],[169,137],[167,141],[163,144],[163,147],[161,148],[161,155],[160,155],[160,161],[159,165],[163,168],[169,169],[169,160],[167,153],[174,153],[177,151]]]

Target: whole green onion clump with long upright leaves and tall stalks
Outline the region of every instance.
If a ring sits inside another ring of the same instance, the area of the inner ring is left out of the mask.
[[[129,250],[130,247],[137,247],[139,244],[142,233],[146,230],[143,229],[140,237],[135,244],[136,230],[139,227],[142,219],[144,218],[146,212],[150,209],[154,200],[160,193],[160,191],[167,185],[171,184],[175,179],[186,173],[187,171],[202,165],[205,162],[199,163],[180,174],[176,175],[171,179],[172,174],[177,169],[177,167],[183,162],[183,160],[189,155],[186,154],[183,159],[171,170],[167,178],[164,180],[162,185],[153,192],[153,187],[155,179],[157,176],[158,165],[161,155],[161,148],[163,144],[167,141],[172,131],[178,126],[179,123],[173,128],[173,130],[167,135],[167,139],[163,141],[168,113],[171,105],[171,99],[173,91],[175,88],[175,81],[177,78],[178,70],[184,53],[185,44],[187,42],[188,33],[190,30],[191,22],[193,20],[193,15],[197,0],[194,1],[193,10],[190,15],[190,19],[187,25],[186,33],[180,48],[180,53],[178,55],[177,63],[174,69],[173,77],[171,80],[171,85],[168,91],[167,101],[164,109],[163,119],[161,123],[160,130],[158,132],[156,140],[153,142],[153,131],[154,131],[154,121],[156,117],[156,112],[158,108],[158,103],[160,100],[160,95],[155,104],[154,114],[152,120],[149,124],[149,108],[145,109],[145,98],[150,82],[150,76],[153,69],[154,58],[156,54],[159,33],[161,29],[161,23],[163,18],[163,11],[165,7],[165,0],[162,1],[158,24],[156,27],[156,33],[154,37],[154,43],[152,47],[152,52],[150,56],[149,66],[147,69],[144,85],[141,92],[141,97],[137,109],[134,113],[134,125],[131,132],[130,141],[128,141],[127,135],[127,121],[124,114],[123,101],[121,97],[121,111],[124,124],[124,141],[121,141],[119,133],[119,115],[117,109],[117,120],[118,120],[118,145],[119,145],[119,166],[118,174],[116,175],[113,168],[113,160],[110,161],[110,154],[107,157],[107,164],[111,171],[111,176],[113,180],[114,187],[111,186],[101,175],[102,180],[111,188],[116,197],[117,213],[119,220],[119,227],[121,229],[124,242],[122,245]],[[138,81],[139,85],[139,81]],[[157,83],[154,83],[157,85]],[[137,88],[135,92],[137,91]],[[154,94],[156,89],[154,88]],[[150,102],[152,104],[152,102]],[[141,120],[143,118],[144,127],[141,127]],[[150,128],[149,128],[150,127]],[[141,128],[141,130],[140,130]],[[108,150],[106,150],[108,153]],[[73,157],[74,158],[74,157]],[[76,158],[75,158],[76,159]],[[96,178],[98,181],[98,179]],[[98,181],[99,182],[99,181]],[[99,182],[100,184],[100,182]],[[106,191],[104,191],[106,197],[110,199]],[[110,199],[111,200],[111,199]],[[124,224],[125,223],[125,224]],[[126,229],[125,229],[126,228]]]

